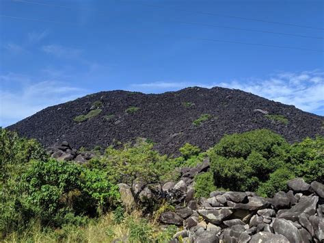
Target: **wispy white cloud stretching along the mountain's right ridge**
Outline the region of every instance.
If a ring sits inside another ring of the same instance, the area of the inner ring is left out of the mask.
[[[235,88],[273,101],[295,105],[295,107],[306,112],[315,112],[317,114],[323,114],[324,112],[324,73],[319,71],[278,73],[267,79],[237,79],[211,83],[157,81],[132,84],[130,89],[159,93],[169,90],[180,90],[189,86]]]

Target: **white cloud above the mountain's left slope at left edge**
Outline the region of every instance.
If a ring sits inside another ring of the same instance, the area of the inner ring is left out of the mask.
[[[10,77],[1,76],[0,83]],[[28,80],[26,78],[26,80]],[[68,86],[60,81],[47,80],[19,86],[18,90],[0,90],[0,126],[6,127],[18,120],[58,103],[64,103],[86,94],[86,90]]]

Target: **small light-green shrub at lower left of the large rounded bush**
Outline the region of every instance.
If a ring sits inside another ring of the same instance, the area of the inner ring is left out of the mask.
[[[209,194],[216,190],[214,186],[213,172],[208,170],[195,176],[195,197],[209,197]]]

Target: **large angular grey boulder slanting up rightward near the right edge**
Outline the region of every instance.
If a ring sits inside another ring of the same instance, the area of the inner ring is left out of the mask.
[[[300,214],[305,213],[312,216],[316,213],[316,204],[319,201],[318,196],[302,196],[299,202],[291,207],[291,209],[278,214],[278,218],[297,221]]]

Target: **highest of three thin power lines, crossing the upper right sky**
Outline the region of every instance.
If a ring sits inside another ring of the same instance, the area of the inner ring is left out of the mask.
[[[161,5],[151,5],[151,4],[146,4],[146,3],[138,3],[138,2],[135,2],[135,1],[131,1],[131,2],[130,1],[123,1],[123,0],[119,0],[119,1],[122,2],[122,3],[131,3],[131,4],[143,5],[143,6],[150,7],[150,8],[161,8],[161,9],[168,8],[168,7],[161,6]],[[265,21],[263,19],[258,19],[258,18],[246,18],[246,17],[242,17],[242,16],[217,14],[217,13],[214,13],[214,12],[193,11],[193,10],[185,10],[185,9],[182,9],[182,8],[169,8],[169,9],[173,9],[173,10],[177,10],[177,11],[181,11],[181,12],[190,12],[190,13],[195,13],[195,14],[206,14],[206,15],[212,15],[212,16],[220,16],[220,17],[225,17],[225,18],[237,18],[237,19],[243,19],[245,21],[256,21],[256,22],[271,23],[271,24],[276,24],[276,25],[287,25],[287,26],[301,27],[301,28],[307,28],[307,29],[321,29],[321,30],[324,30],[324,28],[312,27],[312,26],[308,26],[308,25],[297,25],[297,24],[293,24],[293,23]]]

